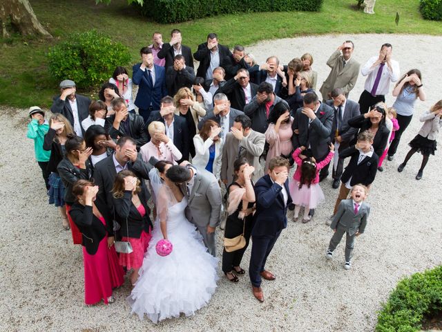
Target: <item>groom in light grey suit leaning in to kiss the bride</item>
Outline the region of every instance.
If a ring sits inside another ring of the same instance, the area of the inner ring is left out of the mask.
[[[187,199],[193,223],[202,235],[209,253],[215,257],[215,229],[220,223],[221,191],[215,176],[196,169],[189,162],[170,167],[166,176],[180,187]]]

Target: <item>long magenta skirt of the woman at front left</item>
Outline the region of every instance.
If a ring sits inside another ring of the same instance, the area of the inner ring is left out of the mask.
[[[112,289],[124,284],[124,270],[118,264],[115,247],[108,248],[108,237],[98,245],[95,255],[89,255],[83,247],[84,302],[96,304],[102,299],[108,303]]]

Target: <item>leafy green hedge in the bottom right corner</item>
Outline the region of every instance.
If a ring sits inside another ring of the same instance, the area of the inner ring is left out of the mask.
[[[401,280],[378,313],[376,332],[414,332],[423,316],[442,310],[442,266]]]

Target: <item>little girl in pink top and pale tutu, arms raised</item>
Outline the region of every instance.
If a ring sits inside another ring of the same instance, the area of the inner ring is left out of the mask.
[[[323,190],[319,185],[319,171],[325,165],[330,163],[334,156],[334,145],[330,144],[330,152],[327,157],[320,163],[316,163],[314,157],[301,158],[300,154],[305,150],[305,147],[298,147],[293,153],[295,160],[296,172],[293,175],[293,181],[289,183],[291,199],[295,206],[294,221],[298,221],[299,211],[301,206],[304,207],[304,217],[302,223],[310,221],[309,210],[316,208],[324,198]]]

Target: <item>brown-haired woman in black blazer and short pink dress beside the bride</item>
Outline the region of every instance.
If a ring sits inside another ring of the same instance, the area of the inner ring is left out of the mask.
[[[121,225],[119,234],[122,241],[129,241],[133,252],[120,253],[119,264],[133,270],[129,279],[135,284],[139,277],[138,270],[143,264],[144,253],[151,240],[151,219],[147,206],[146,186],[128,170],[123,170],[115,177],[113,184],[113,203],[115,219]]]

